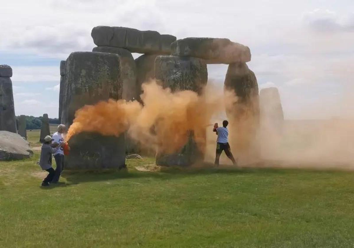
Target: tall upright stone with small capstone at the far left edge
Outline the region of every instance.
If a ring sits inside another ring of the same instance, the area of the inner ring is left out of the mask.
[[[11,77],[12,68],[0,65],[0,130],[17,133]]]

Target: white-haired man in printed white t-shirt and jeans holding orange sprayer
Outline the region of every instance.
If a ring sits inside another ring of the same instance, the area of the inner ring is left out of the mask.
[[[53,134],[53,143],[58,143],[60,144],[59,149],[54,153],[54,158],[55,158],[55,163],[57,164],[57,167],[55,168],[55,175],[52,180],[52,184],[57,183],[59,181],[60,174],[63,171],[64,168],[64,133],[66,131],[66,127],[63,124],[60,124],[58,126],[58,131]]]

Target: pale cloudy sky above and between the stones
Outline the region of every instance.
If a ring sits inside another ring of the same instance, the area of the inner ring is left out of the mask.
[[[16,115],[58,117],[60,61],[92,51],[99,25],[229,38],[250,47],[247,64],[260,89],[279,89],[286,119],[354,115],[353,0],[12,0],[1,8],[0,64],[13,69]],[[220,90],[226,71],[208,65]]]

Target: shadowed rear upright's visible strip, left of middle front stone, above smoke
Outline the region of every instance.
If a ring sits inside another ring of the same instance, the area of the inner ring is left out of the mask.
[[[158,55],[143,54],[135,59],[137,69],[137,100],[140,101],[140,95],[143,93],[142,84],[155,79],[155,58]]]

